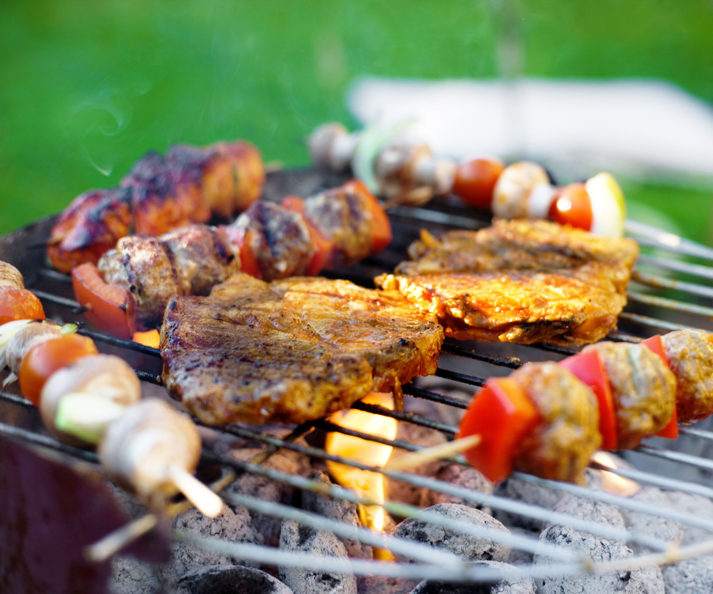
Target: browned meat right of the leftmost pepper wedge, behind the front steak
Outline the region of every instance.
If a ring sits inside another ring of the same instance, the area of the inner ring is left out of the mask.
[[[98,269],[106,282],[133,294],[138,325],[152,327],[172,295],[207,295],[239,271],[240,252],[220,229],[196,224],[161,237],[123,237]]]

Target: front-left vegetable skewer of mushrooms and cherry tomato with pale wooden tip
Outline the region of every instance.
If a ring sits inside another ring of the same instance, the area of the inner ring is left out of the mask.
[[[19,271],[1,262],[0,286],[21,284]],[[76,324],[20,318],[24,299],[14,319],[0,326],[0,358],[19,376],[22,394],[40,409],[48,431],[71,446],[98,444],[109,475],[153,507],[163,508],[180,491],[217,516],[220,498],[193,476],[201,446],[193,421],[159,399],[142,401],[133,369],[99,354],[90,338],[75,334]]]

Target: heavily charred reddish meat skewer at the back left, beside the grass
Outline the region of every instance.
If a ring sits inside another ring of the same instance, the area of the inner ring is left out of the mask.
[[[120,237],[161,235],[211,215],[242,212],[262,193],[260,152],[242,140],[207,148],[175,145],[166,155],[147,153],[116,188],[90,190],[62,212],[51,231],[47,255],[70,272],[97,262]]]

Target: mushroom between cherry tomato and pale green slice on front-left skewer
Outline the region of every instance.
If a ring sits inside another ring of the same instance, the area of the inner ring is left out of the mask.
[[[59,431],[55,426],[59,401],[71,392],[92,394],[122,406],[130,406],[141,399],[141,382],[123,359],[109,354],[83,357],[51,375],[40,396],[42,421],[59,441],[73,446],[86,446],[86,441]]]

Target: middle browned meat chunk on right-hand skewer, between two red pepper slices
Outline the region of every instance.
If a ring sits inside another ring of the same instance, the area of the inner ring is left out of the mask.
[[[612,387],[620,449],[632,449],[656,435],[671,420],[676,406],[676,378],[661,358],[642,344],[600,342]]]

